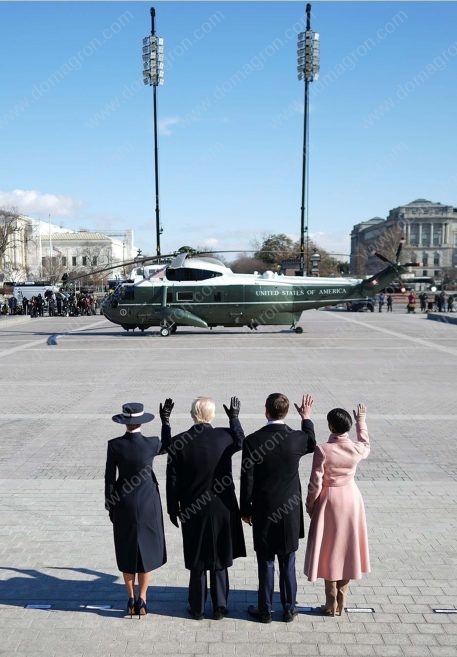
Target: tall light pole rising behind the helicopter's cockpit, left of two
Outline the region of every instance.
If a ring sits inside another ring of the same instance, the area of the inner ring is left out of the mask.
[[[143,82],[153,90],[154,101],[154,182],[156,194],[156,244],[157,255],[160,256],[160,226],[159,209],[159,139],[157,134],[157,87],[162,85],[164,72],[164,40],[155,33],[155,9],[151,7],[151,34],[143,39]]]

